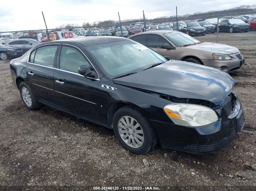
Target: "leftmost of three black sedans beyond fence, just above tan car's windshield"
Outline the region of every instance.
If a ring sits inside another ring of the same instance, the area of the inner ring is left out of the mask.
[[[199,23],[184,23],[181,25],[180,31],[190,36],[192,35],[205,35],[206,29]]]

